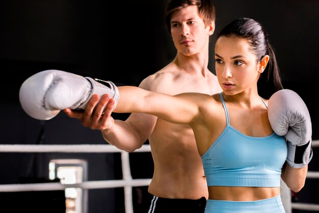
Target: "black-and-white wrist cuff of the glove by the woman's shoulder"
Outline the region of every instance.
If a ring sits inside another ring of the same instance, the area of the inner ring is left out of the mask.
[[[299,169],[309,164],[313,155],[311,139],[308,143],[302,146],[293,145],[288,141],[287,147],[287,163],[291,167]]]

